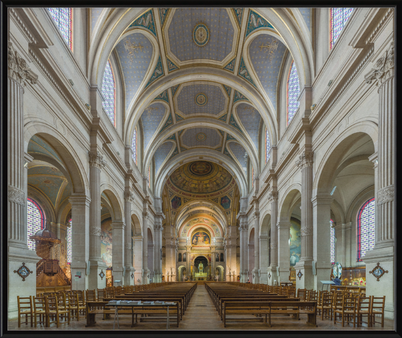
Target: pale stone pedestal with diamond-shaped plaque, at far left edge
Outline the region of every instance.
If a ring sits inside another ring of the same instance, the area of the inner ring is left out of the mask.
[[[36,296],[36,263],[41,258],[36,255],[36,251],[28,249],[25,245],[21,247],[8,247],[8,317],[14,319],[18,317],[17,296],[29,297]],[[25,263],[25,266],[32,271],[23,281],[18,273],[18,269]]]

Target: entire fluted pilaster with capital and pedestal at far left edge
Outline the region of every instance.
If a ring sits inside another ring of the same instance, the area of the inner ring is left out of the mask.
[[[40,258],[36,251],[29,250],[27,245],[27,181],[24,170],[24,87],[27,82],[35,85],[38,79],[8,42],[8,102],[7,102],[7,167],[8,167],[8,313],[9,319],[17,317],[17,295],[28,297],[36,295],[36,263]],[[23,263],[33,272],[23,282],[14,270]],[[28,285],[27,285],[28,284]]]

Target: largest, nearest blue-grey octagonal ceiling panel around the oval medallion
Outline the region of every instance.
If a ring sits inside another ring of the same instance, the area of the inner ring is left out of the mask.
[[[194,28],[199,23],[208,28],[208,42],[202,46],[193,39]],[[222,61],[231,53],[237,38],[229,13],[224,8],[175,9],[166,33],[169,52],[180,61]]]

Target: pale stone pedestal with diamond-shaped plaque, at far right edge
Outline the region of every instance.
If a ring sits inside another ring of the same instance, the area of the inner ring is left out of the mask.
[[[377,244],[375,244],[376,246]],[[394,318],[394,247],[380,247],[366,251],[363,262],[366,265],[366,296],[382,297],[385,296],[384,317],[387,319]],[[362,263],[363,263],[362,262]],[[377,263],[384,273],[377,281],[373,274],[370,274]]]

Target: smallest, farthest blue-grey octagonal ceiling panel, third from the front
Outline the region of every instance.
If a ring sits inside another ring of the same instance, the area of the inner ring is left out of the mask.
[[[180,138],[181,143],[188,148],[196,146],[215,148],[222,143],[222,135],[216,129],[205,127],[187,129]]]

